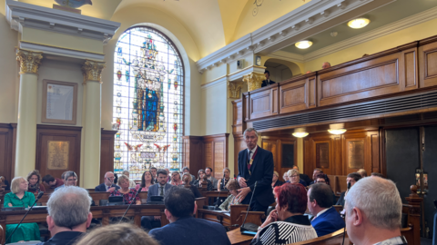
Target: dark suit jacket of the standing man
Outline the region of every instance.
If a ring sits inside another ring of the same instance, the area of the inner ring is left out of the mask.
[[[253,195],[253,199],[258,201],[262,206],[269,206],[271,203],[275,202],[273,192],[271,191],[273,168],[273,154],[258,146],[258,152],[255,155],[250,168],[250,175],[248,170],[248,150],[245,149],[239,152],[239,177],[246,179],[250,191],[253,191],[255,182],[257,182],[257,189]],[[252,193],[249,193],[246,196],[246,199],[250,200],[251,195]],[[247,203],[247,201],[242,202]]]

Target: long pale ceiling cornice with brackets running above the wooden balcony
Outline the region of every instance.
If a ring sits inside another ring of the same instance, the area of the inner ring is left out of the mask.
[[[269,55],[334,25],[388,5],[396,0],[312,0],[264,25],[253,33],[208,54],[196,63],[199,73],[223,59],[227,63],[239,58],[239,53]],[[250,48],[249,48],[250,47]]]

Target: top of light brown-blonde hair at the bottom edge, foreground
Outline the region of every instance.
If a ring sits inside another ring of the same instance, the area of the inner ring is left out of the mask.
[[[128,223],[107,225],[91,230],[76,245],[159,245],[146,231]]]

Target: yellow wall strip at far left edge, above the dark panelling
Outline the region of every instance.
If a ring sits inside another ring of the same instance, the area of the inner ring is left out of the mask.
[[[0,0],[0,122],[16,122],[18,110],[18,64],[15,46],[18,33],[6,22],[5,0]]]

